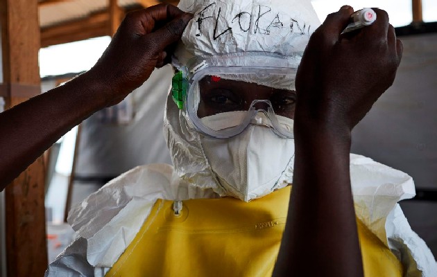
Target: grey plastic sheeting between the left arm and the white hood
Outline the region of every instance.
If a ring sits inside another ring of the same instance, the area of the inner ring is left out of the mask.
[[[130,123],[104,123],[98,113],[83,122],[75,175],[112,177],[146,163],[171,163],[162,124],[172,77],[171,66],[156,69],[131,94]]]

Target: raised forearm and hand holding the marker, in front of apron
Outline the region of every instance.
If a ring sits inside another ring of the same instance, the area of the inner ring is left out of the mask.
[[[347,37],[329,15],[298,69],[293,193],[274,276],[363,276],[350,186],[351,131],[393,84],[402,57],[388,15]]]

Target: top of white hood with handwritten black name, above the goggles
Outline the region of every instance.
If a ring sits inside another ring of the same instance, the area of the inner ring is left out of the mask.
[[[178,7],[194,14],[173,55],[173,66],[189,71],[187,75],[202,66],[297,69],[320,25],[309,0],[187,0]],[[275,74],[234,72],[224,78],[295,89],[294,78]]]

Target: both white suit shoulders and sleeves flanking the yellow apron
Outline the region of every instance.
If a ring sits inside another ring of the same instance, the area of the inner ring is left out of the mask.
[[[411,177],[359,155],[351,154],[350,161],[357,217],[388,244],[402,261],[406,276],[436,276],[431,251],[411,231],[397,204],[413,197]],[[169,165],[130,170],[71,211],[69,223],[78,239],[49,266],[46,276],[104,276],[132,242],[155,199],[211,197],[217,195],[184,183]]]

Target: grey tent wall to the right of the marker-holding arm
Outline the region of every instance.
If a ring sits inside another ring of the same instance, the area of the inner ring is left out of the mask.
[[[422,33],[432,25],[397,29],[410,35],[399,37],[404,55],[396,80],[354,129],[352,152],[413,177],[418,195],[401,206],[437,256],[437,28]]]

